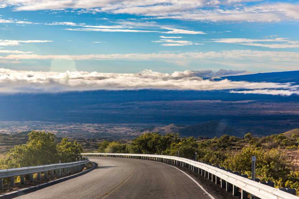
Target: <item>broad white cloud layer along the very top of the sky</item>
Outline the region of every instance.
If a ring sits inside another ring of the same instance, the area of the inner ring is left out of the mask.
[[[246,5],[256,2],[255,5]],[[107,12],[146,17],[201,21],[283,21],[299,20],[297,3],[255,0],[2,0],[17,11],[77,9],[78,12]],[[223,5],[225,9],[220,9]]]

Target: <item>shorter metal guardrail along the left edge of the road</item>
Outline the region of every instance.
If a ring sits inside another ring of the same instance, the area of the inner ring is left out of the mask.
[[[40,180],[40,173],[44,172],[44,178],[48,178],[48,172],[50,172],[50,177],[55,176],[63,176],[68,172],[73,172],[77,170],[81,170],[84,167],[84,164],[88,163],[89,159],[77,161],[77,162],[69,162],[69,163],[61,163],[61,164],[49,164],[43,166],[32,166],[32,167],[22,167],[17,169],[3,169],[0,170],[0,189],[3,189],[3,178],[10,177],[10,185],[14,187],[16,176],[21,177],[21,183],[25,183],[25,175],[29,174],[30,182],[33,182],[33,174],[37,174],[37,179]]]

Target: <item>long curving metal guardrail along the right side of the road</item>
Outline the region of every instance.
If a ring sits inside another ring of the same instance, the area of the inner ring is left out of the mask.
[[[199,174],[205,175],[208,179],[216,184],[221,184],[221,187],[226,187],[227,191],[233,191],[233,195],[238,195],[239,189],[241,192],[241,199],[247,199],[247,193],[260,199],[299,199],[290,193],[284,192],[274,187],[255,182],[248,178],[234,174],[229,169],[223,169],[196,160],[189,160],[187,158],[168,156],[168,155],[149,155],[149,154],[123,154],[123,153],[81,153],[83,156],[111,156],[111,157],[125,157],[138,158],[145,160],[155,160],[161,162],[172,163],[192,169]],[[230,189],[230,190],[228,190]]]

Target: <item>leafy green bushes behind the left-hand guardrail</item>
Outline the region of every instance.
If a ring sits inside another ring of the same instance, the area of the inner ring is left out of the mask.
[[[54,133],[32,131],[28,133],[26,144],[16,145],[5,158],[0,159],[1,169],[56,164],[79,160],[83,149],[77,141],[63,138],[60,143],[55,141]]]

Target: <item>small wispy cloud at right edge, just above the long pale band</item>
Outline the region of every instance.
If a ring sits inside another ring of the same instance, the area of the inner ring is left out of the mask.
[[[248,46],[260,46],[267,48],[298,48],[299,41],[292,41],[289,38],[267,38],[267,39],[245,39],[245,38],[227,38],[211,39],[213,42],[241,44]],[[278,43],[279,42],[279,43]]]

